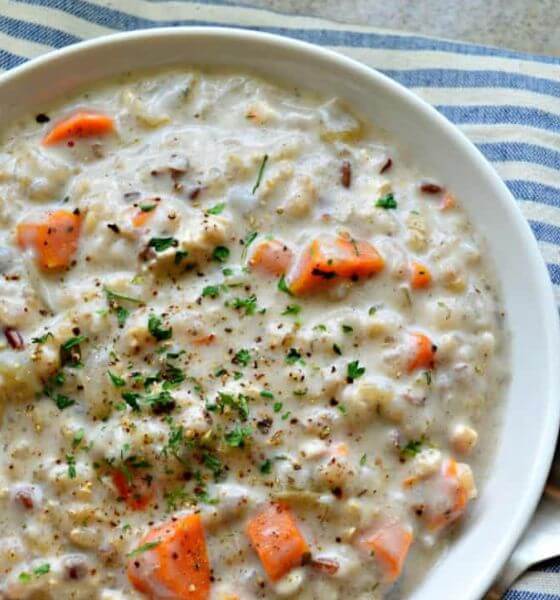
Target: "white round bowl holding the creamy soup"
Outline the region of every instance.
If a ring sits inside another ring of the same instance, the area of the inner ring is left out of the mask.
[[[414,600],[480,598],[533,513],[560,417],[560,337],[548,273],[513,198],[475,147],[430,106],[387,77],[322,48],[250,31],[177,28],[96,39],[0,77],[3,124],[40,112],[78,85],[169,64],[233,65],[345,98],[457,193],[486,238],[512,330],[512,382],[497,456],[467,526]]]

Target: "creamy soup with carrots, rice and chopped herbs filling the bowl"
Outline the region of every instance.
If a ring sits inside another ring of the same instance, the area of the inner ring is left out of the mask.
[[[460,199],[253,75],[39,108],[0,146],[0,597],[408,597],[507,380]]]

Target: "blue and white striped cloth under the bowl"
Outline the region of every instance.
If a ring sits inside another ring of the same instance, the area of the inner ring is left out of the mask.
[[[228,0],[0,0],[0,70],[83,39],[177,25],[248,27],[313,42],[413,89],[493,163],[533,229],[560,301],[560,58],[281,15]],[[560,560],[526,574],[506,598],[560,599]]]

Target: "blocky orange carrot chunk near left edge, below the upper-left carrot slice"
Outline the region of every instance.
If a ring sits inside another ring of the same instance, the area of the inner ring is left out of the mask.
[[[67,210],[49,213],[41,223],[17,226],[20,248],[33,248],[43,269],[68,267],[78,249],[79,237],[80,215]]]

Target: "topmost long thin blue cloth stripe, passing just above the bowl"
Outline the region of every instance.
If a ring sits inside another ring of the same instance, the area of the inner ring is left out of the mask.
[[[176,25],[217,25],[217,23],[194,20],[153,20],[142,17],[136,17],[123,11],[92,4],[86,0],[15,0],[20,3],[33,4],[36,6],[45,6],[64,10],[69,14],[98,25],[103,25],[111,29],[131,30],[150,27],[164,27]],[[212,4],[213,2],[207,2]],[[217,3],[218,5],[220,2]],[[162,7],[162,12],[164,8]],[[238,29],[247,29],[247,27],[236,27]],[[554,56],[538,56],[515,52],[511,50],[501,50],[498,48],[489,48],[478,46],[476,44],[464,44],[457,42],[448,42],[444,40],[434,40],[421,36],[406,35],[387,35],[370,32],[358,32],[350,30],[329,30],[329,29],[291,29],[288,27],[251,27],[255,31],[264,31],[276,33],[297,38],[307,42],[332,47],[351,47],[351,48],[386,48],[395,50],[428,50],[440,52],[454,52],[475,56],[499,56],[503,58],[531,60],[547,64],[559,64],[560,58]]]

